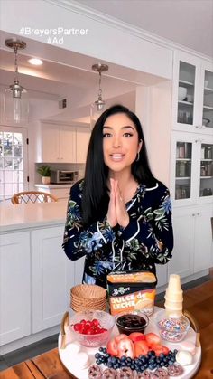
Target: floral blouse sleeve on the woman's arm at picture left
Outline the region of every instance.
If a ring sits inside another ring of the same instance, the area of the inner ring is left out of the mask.
[[[83,181],[80,181],[71,188],[63,240],[63,249],[73,261],[97,251],[114,238],[114,232],[106,218],[92,223],[88,229],[83,227],[80,212],[82,184]]]

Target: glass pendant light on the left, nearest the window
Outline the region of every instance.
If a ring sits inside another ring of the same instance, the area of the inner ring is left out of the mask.
[[[8,39],[5,45],[14,49],[14,84],[5,89],[4,112],[5,120],[12,121],[16,124],[27,123],[29,116],[29,99],[27,90],[25,90],[18,80],[18,50],[25,49],[26,43],[21,40]]]

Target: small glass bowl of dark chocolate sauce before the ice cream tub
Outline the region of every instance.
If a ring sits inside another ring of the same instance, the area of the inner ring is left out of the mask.
[[[149,318],[141,311],[125,312],[116,315],[116,327],[119,333],[129,336],[133,332],[144,333]]]

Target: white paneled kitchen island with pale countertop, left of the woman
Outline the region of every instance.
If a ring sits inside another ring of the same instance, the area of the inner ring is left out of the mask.
[[[0,355],[57,333],[83,260],[61,244],[67,201],[0,205]]]

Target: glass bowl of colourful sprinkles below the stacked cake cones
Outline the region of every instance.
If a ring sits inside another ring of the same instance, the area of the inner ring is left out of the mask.
[[[180,342],[187,335],[190,328],[190,321],[187,317],[160,317],[157,320],[160,336],[168,342]]]

